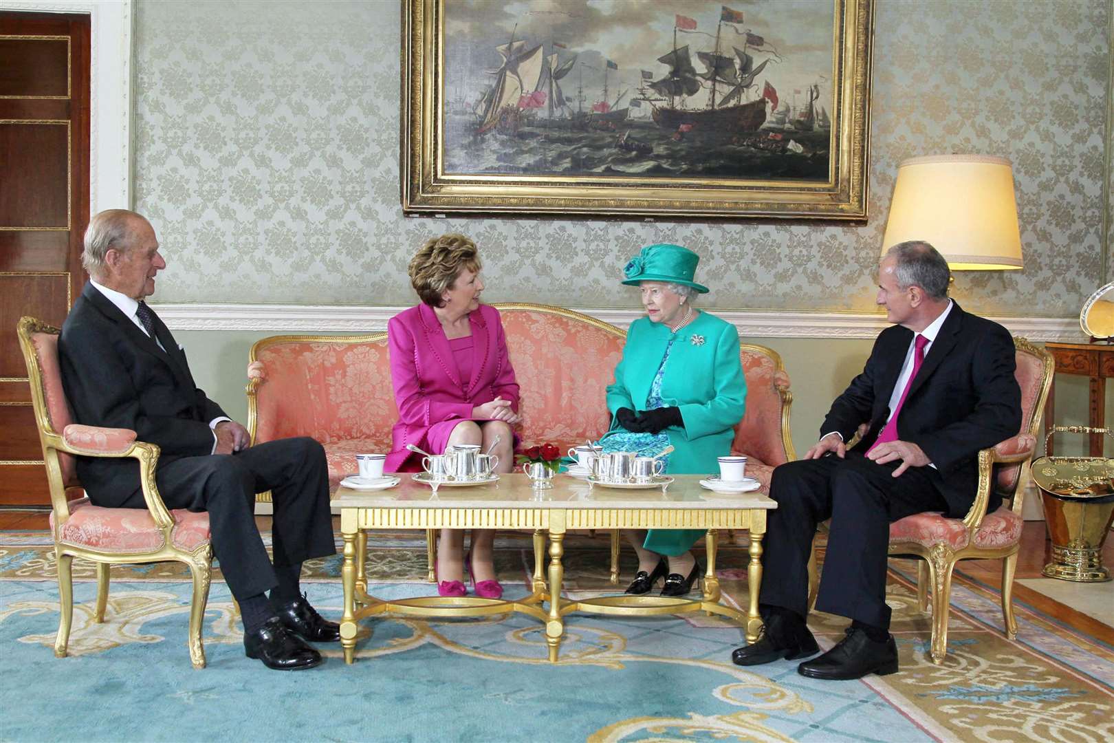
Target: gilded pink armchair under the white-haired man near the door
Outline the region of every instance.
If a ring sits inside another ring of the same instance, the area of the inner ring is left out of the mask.
[[[168,510],[155,483],[159,448],[136,441],[127,429],[98,428],[72,423],[58,368],[59,330],[35,317],[18,324],[20,348],[31,385],[31,404],[42,444],[50,486],[50,530],[58,561],[60,619],[55,655],[65,657],[74,616],[72,561],[75,557],[97,565],[95,618],[105,620],[108,604],[108,571],[113,564],[175,560],[189,566],[193,599],[189,607],[189,658],[195,668],[205,667],[202,622],[208,603],[212,571],[208,514],[185,509]],[[139,479],[146,510],[101,508],[80,492],[76,456],[126,457],[139,462]],[[75,493],[77,495],[77,493]]]

